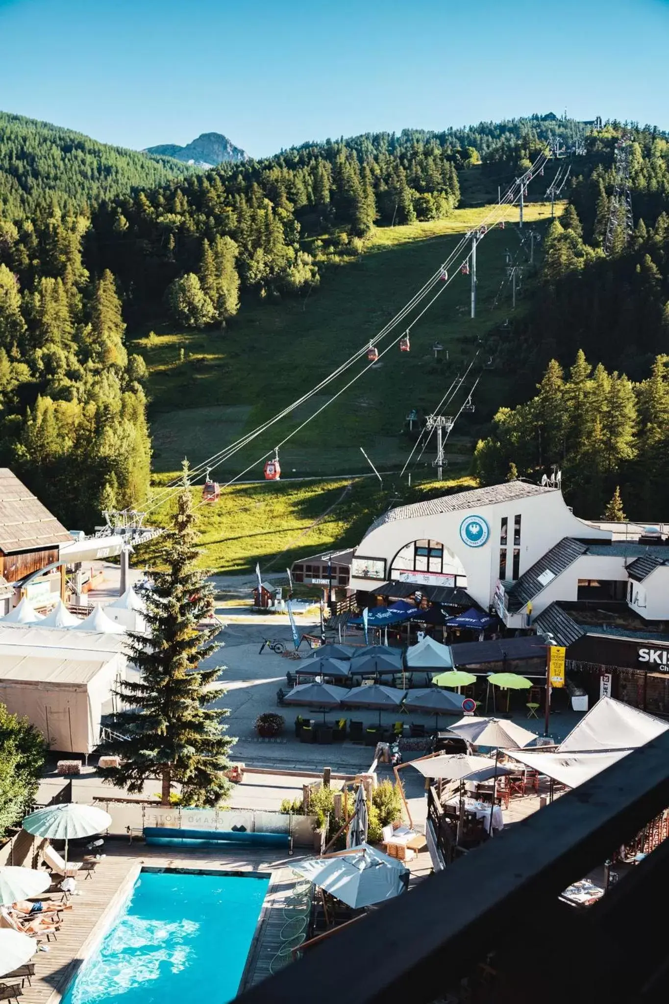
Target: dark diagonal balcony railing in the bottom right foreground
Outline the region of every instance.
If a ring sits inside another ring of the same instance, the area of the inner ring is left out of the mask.
[[[669,733],[343,929],[243,1004],[669,1000],[669,841],[586,909],[559,895],[669,806]],[[482,974],[476,989],[460,981]]]

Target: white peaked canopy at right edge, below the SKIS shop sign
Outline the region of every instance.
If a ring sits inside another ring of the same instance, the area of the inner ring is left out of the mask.
[[[667,729],[667,722],[629,704],[604,697],[572,729],[560,744],[560,751],[632,749],[643,746]]]

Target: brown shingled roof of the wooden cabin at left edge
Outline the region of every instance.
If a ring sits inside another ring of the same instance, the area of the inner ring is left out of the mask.
[[[0,550],[33,550],[71,543],[65,527],[8,467],[0,467]]]

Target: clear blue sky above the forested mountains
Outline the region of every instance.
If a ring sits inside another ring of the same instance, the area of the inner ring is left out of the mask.
[[[565,108],[669,130],[669,0],[0,0],[0,108],[141,149]]]

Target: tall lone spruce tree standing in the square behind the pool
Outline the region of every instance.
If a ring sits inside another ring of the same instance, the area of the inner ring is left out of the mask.
[[[163,805],[175,784],[182,786],[186,805],[218,805],[230,791],[224,771],[235,740],[223,724],[228,711],[212,707],[224,693],[215,685],[220,671],[198,669],[216,650],[218,629],[197,630],[211,611],[212,587],[195,568],[195,521],[185,484],[173,528],[160,538],[159,561],[166,571],[153,571],[152,585],[142,589],[148,637],[129,634],[140,678],[120,686],[118,696],[127,707],[113,716],[112,726],[125,738],[110,739],[104,747],[121,758],[119,767],[104,770],[105,781],[139,792],[147,780],[159,778]]]

